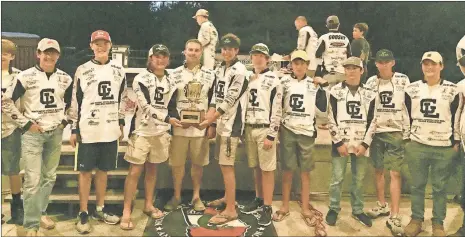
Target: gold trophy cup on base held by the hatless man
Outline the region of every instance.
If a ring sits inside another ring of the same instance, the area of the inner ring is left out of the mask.
[[[205,110],[199,110],[196,107],[197,104],[203,103],[201,101],[202,87],[203,85],[195,78],[184,87],[184,94],[190,103],[190,108],[181,110],[180,117],[183,125],[196,126],[204,120]]]

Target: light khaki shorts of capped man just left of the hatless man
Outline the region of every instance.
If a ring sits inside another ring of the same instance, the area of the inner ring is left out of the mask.
[[[165,133],[160,136],[139,136],[133,134],[128,141],[128,150],[124,159],[136,165],[145,162],[162,163],[168,160],[171,135]]]

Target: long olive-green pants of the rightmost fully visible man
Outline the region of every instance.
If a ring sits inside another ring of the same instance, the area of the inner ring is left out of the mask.
[[[451,147],[434,147],[414,141],[405,145],[405,158],[412,175],[410,194],[412,219],[423,221],[425,218],[425,188],[428,174],[431,173],[433,186],[433,218],[431,221],[443,224],[447,211],[446,183],[452,171],[455,155],[458,154]]]

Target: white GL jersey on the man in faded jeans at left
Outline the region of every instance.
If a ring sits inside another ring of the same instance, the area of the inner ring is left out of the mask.
[[[2,112],[23,129],[29,130],[32,123],[44,131],[67,125],[65,111],[71,104],[73,79],[60,69],[45,73],[38,65],[16,76],[14,85],[2,97]],[[21,99],[21,111],[15,106]]]

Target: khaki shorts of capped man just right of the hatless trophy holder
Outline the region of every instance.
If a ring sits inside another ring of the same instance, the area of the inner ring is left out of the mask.
[[[238,144],[238,137],[216,136],[215,159],[219,160],[220,165],[234,165]]]

